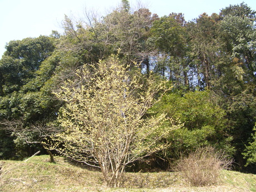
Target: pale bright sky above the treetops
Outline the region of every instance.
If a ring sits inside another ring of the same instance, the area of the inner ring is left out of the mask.
[[[26,37],[50,35],[52,30],[62,32],[61,22],[64,15],[82,17],[83,10],[94,9],[105,15],[121,0],[0,0],[0,56],[4,46],[11,40],[22,40]],[[137,5],[130,0],[131,7]],[[171,12],[184,13],[186,21],[198,17],[201,13],[219,13],[229,4],[240,4],[238,0],[140,0],[140,3],[159,16]],[[244,0],[256,10],[255,0]]]

